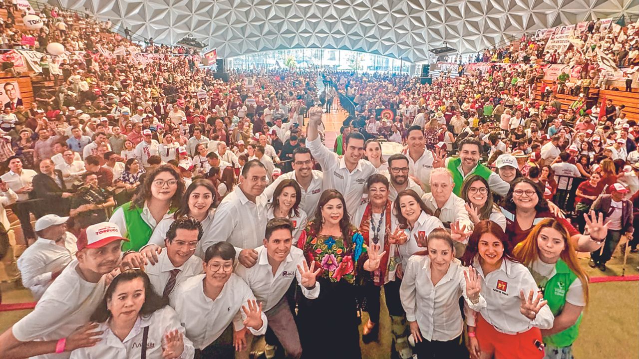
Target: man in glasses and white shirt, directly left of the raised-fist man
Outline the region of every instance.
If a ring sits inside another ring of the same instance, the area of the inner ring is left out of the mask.
[[[272,199],[275,188],[284,179],[294,179],[302,190],[300,208],[304,210],[307,218],[314,218],[318,207],[319,196],[322,192],[323,172],[313,169],[315,161],[311,156],[311,150],[298,147],[293,151],[293,171],[279,176],[264,190],[267,199]]]

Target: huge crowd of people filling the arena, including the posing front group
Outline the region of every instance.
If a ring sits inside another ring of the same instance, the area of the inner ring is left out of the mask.
[[[225,82],[190,50],[42,17],[89,56],[0,115],[0,257],[37,301],[3,358],[249,358],[263,335],[266,358],[350,359],[390,333],[402,359],[568,359],[578,252],[601,271],[636,252],[639,125],[566,109],[539,68]],[[355,113],[331,150],[338,93]]]

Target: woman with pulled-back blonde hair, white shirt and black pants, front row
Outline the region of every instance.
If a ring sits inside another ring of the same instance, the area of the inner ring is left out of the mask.
[[[464,329],[459,298],[470,309],[486,306],[476,271],[464,268],[454,257],[450,234],[443,228],[431,231],[427,250],[410,257],[399,294],[415,340],[413,352],[422,358],[467,358],[461,335]]]

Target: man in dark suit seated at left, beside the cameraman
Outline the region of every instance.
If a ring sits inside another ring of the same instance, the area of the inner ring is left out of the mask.
[[[69,200],[73,194],[66,189],[62,171],[55,169],[52,160],[40,162],[40,172],[33,177],[33,192],[36,199],[41,199],[35,212],[38,215],[53,213],[61,217],[69,215]]]

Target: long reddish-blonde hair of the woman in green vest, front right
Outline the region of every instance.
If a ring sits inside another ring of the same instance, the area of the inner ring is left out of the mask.
[[[570,270],[577,275],[579,280],[581,280],[581,287],[583,288],[583,299],[585,303],[588,303],[589,277],[579,265],[577,252],[574,249],[573,243],[570,241],[570,234],[568,233],[568,230],[561,222],[559,222],[555,218],[545,218],[541,220],[541,222],[539,222],[537,225],[535,225],[526,239],[519,243],[514,248],[514,250],[512,250],[512,254],[516,259],[518,259],[518,261],[530,268],[534,261],[539,260],[537,237],[539,236],[539,233],[541,233],[541,230],[544,228],[555,229],[555,231],[559,232],[562,238],[564,238],[564,243],[566,243],[566,245],[564,246],[564,249],[559,256],[564,262],[566,262],[568,268],[570,268]]]

